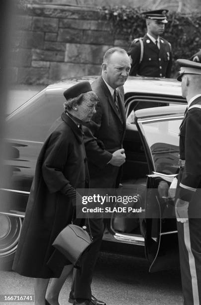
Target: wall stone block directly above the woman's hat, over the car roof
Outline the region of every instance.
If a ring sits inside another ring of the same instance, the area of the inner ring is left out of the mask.
[[[68,77],[87,75],[87,65],[72,63],[50,63],[49,77],[51,81],[62,80]]]

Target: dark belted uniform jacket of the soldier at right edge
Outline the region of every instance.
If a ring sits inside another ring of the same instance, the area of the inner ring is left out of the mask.
[[[180,126],[180,158],[185,166],[180,169],[177,197],[190,202],[201,188],[201,95],[190,104]]]

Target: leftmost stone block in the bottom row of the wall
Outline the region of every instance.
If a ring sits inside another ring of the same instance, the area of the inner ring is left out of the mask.
[[[48,71],[46,68],[19,68],[17,82],[27,85],[49,84]]]

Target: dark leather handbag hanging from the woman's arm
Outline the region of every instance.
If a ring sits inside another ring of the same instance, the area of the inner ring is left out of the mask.
[[[58,249],[75,267],[80,268],[81,259],[86,250],[93,242],[93,237],[86,231],[87,227],[79,227],[69,224],[65,227],[53,242],[53,246]]]

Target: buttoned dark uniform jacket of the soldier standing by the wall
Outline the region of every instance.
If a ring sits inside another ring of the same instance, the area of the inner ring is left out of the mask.
[[[141,44],[143,41],[143,57],[140,62]],[[150,77],[168,77],[171,75],[172,52],[171,44],[164,38],[160,39],[160,49],[146,34],[143,38],[134,39],[129,47],[131,58],[130,75],[136,74]]]

